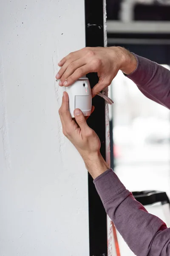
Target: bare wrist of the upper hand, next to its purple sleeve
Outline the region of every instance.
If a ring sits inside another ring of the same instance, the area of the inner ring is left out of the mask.
[[[129,52],[127,49],[123,47],[119,48],[119,55],[120,55],[120,70],[125,73],[126,75],[129,75],[134,70],[136,70],[137,67],[137,59],[133,53]]]

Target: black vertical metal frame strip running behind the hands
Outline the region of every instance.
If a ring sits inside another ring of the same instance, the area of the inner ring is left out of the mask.
[[[103,47],[103,0],[85,0],[86,47]],[[87,75],[91,87],[98,82],[96,73]],[[94,113],[88,119],[88,125],[96,131],[101,141],[101,154],[105,154],[105,101],[101,97],[94,97],[92,104]],[[88,176],[89,200],[89,237],[90,256],[107,255],[107,216],[102,201],[96,192],[93,179]]]

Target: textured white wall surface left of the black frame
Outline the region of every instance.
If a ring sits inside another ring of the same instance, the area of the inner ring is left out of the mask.
[[[82,47],[84,0],[0,1],[0,256],[89,256],[88,176],[54,78]]]

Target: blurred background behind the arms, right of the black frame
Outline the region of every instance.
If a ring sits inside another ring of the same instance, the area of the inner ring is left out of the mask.
[[[106,0],[108,46],[122,46],[170,70],[170,0]],[[170,111],[119,72],[109,90],[111,166],[130,191],[170,198]],[[113,157],[114,156],[114,157]],[[154,206],[149,211],[164,215]],[[134,255],[118,234],[120,255]]]

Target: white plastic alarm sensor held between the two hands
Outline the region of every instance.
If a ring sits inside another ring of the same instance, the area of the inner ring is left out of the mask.
[[[74,117],[74,109],[79,108],[84,116],[91,114],[91,87],[88,78],[80,78],[66,87],[69,97],[69,111]]]

